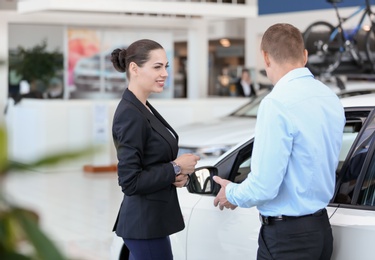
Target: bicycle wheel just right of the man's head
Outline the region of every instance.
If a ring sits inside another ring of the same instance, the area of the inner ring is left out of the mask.
[[[313,74],[331,73],[340,65],[342,50],[341,34],[330,23],[319,21],[311,24],[303,33],[308,51],[306,66]]]

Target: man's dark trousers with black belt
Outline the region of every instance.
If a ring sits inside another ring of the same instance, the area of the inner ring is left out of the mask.
[[[333,236],[327,211],[262,225],[258,244],[258,260],[329,260]]]

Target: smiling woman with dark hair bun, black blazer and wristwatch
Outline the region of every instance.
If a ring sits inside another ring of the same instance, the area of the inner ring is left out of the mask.
[[[151,93],[163,91],[168,76],[163,47],[139,40],[126,50],[115,49],[111,60],[129,80],[112,126],[124,193],[114,231],[130,259],[173,259],[169,235],[185,227],[176,187],[187,185],[199,157],[176,158],[177,133],[147,101]]]

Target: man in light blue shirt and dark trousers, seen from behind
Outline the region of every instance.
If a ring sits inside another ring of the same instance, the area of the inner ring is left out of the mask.
[[[258,208],[257,259],[328,260],[333,237],[325,207],[334,193],[344,110],[305,68],[297,28],[271,26],[261,51],[274,88],[258,111],[252,170],[241,184],[215,176],[221,189],[214,205]]]

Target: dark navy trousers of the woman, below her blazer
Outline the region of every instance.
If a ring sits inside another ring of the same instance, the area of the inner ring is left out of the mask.
[[[169,237],[156,239],[124,239],[130,251],[129,260],[173,260]]]

